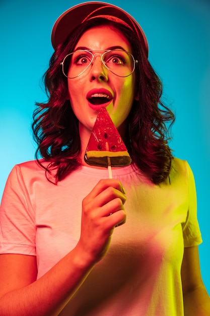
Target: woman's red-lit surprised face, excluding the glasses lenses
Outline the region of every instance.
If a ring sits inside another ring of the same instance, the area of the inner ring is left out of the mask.
[[[112,49],[112,47],[131,52],[128,40],[118,29],[98,26],[87,30],[81,36],[75,50],[88,49],[92,50],[93,54],[103,54],[103,51],[99,50]],[[71,67],[70,65],[69,72]],[[119,77],[109,71],[102,64],[101,57],[96,55],[93,65],[84,73],[74,79],[68,79],[69,100],[79,120],[80,133],[84,130],[90,132],[100,108],[106,107],[123,137],[126,118],[135,97],[134,90],[134,73],[128,77]]]

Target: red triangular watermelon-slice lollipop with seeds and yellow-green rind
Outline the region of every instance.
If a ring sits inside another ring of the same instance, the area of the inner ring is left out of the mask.
[[[105,108],[98,113],[84,159],[90,166],[106,168],[131,163],[127,148]]]

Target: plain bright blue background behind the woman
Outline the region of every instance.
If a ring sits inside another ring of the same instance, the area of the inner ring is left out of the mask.
[[[111,2],[111,0],[110,0]],[[0,197],[15,164],[34,159],[31,122],[35,101],[45,101],[41,77],[53,52],[52,26],[78,4],[66,0],[0,0]],[[113,0],[143,27],[149,60],[176,114],[171,147],[189,162],[196,181],[203,281],[210,293],[210,2],[209,0]]]

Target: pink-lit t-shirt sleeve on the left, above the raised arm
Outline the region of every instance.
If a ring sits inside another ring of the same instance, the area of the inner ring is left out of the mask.
[[[0,208],[0,253],[36,255],[35,210],[20,166],[11,171]]]

